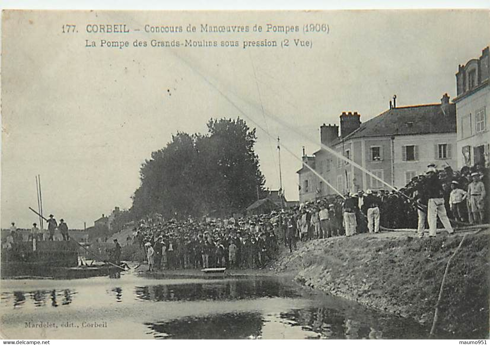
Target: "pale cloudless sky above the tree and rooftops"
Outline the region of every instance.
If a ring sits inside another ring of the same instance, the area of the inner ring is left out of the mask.
[[[129,34],[90,34],[124,23]],[[328,33],[152,34],[145,25],[328,24]],[[35,176],[46,214],[70,227],[129,208],[139,169],[177,131],[206,132],[210,118],[257,127],[266,187],[279,187],[275,138],[289,200],[298,199],[302,147],[343,111],[361,121],[397,105],[455,96],[459,64],[490,43],[488,11],[111,12],[24,11],[2,18],[1,226],[37,221]],[[75,24],[78,32],[62,33]],[[85,40],[130,47],[87,48]],[[287,48],[134,48],[135,40],[289,40]],[[311,48],[294,47],[294,39]],[[276,121],[279,120],[279,121]],[[288,125],[285,126],[284,124]]]

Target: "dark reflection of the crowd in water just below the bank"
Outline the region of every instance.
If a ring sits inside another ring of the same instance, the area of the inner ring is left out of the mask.
[[[226,280],[214,283],[137,286],[138,299],[150,301],[237,300],[262,297],[299,297],[291,286],[277,280]]]

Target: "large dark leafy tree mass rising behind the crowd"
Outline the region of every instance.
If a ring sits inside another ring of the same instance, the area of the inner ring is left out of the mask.
[[[211,119],[208,133],[178,132],[140,170],[131,213],[139,218],[229,216],[256,200],[264,175],[254,152],[255,129],[244,120]]]

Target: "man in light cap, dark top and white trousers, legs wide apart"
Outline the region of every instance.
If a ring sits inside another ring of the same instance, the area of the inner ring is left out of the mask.
[[[444,229],[452,234],[454,232],[449,218],[447,218],[446,208],[444,207],[444,197],[442,184],[437,175],[436,168],[427,169],[427,179],[424,185],[424,194],[428,198],[427,220],[429,222],[429,237],[436,237],[437,217],[444,225]]]

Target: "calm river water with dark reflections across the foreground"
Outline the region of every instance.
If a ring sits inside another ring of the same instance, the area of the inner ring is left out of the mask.
[[[413,339],[412,320],[316,293],[291,278],[2,280],[10,339]]]

